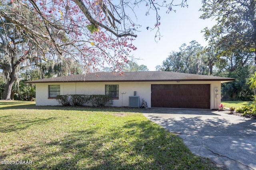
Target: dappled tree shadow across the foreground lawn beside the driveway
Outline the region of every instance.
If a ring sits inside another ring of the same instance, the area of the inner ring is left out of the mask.
[[[39,145],[44,149],[38,151],[40,156],[30,149],[22,150],[30,154],[21,159],[33,160],[33,164],[4,165],[4,168],[214,169],[211,163],[191,154],[179,137],[148,120],[128,120],[123,125],[107,129],[94,127],[74,130],[58,140]]]

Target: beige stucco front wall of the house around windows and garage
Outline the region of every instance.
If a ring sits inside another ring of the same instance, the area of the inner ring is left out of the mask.
[[[60,94],[105,94],[105,84],[119,84],[119,99],[114,100],[113,106],[128,106],[128,97],[140,96],[151,107],[151,84],[210,84],[210,109],[218,109],[220,105],[220,81],[204,82],[77,82],[77,83],[37,83],[36,105],[58,105],[55,99],[48,99],[48,85],[60,85]],[[218,93],[214,89],[218,88]],[[218,96],[216,96],[218,94]],[[216,98],[217,97],[217,98]]]

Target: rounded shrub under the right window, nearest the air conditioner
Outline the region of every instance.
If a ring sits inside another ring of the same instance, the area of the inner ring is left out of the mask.
[[[90,96],[90,101],[93,106],[111,106],[113,104],[113,98],[109,95],[93,94]]]

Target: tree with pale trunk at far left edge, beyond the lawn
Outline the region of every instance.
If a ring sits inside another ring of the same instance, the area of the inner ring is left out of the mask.
[[[32,63],[33,59],[29,55],[35,48],[33,44],[28,45],[20,27],[9,24],[10,21],[6,21],[8,24],[3,24],[5,21],[5,18],[0,20],[0,69],[3,70],[6,78],[3,99],[10,100],[13,98],[12,87],[18,78],[18,71],[28,63]]]

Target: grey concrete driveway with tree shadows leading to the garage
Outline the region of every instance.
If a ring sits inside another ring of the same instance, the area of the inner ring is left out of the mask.
[[[203,109],[142,109],[192,153],[228,170],[256,170],[256,120]]]

